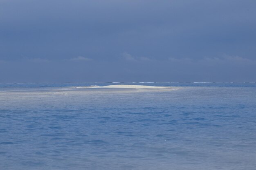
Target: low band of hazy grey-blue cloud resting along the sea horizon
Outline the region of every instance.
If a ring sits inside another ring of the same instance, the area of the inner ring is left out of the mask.
[[[33,64],[29,64],[29,60],[9,61],[0,66],[0,81],[56,82],[58,79],[58,82],[253,82],[256,79],[255,60],[237,56],[193,60],[171,58],[147,62],[137,59],[68,61],[54,60]]]

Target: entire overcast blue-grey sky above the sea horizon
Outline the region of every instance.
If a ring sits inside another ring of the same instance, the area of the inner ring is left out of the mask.
[[[0,0],[0,83],[256,82],[255,0]]]

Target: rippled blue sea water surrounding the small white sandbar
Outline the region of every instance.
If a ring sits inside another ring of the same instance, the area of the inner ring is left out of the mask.
[[[256,83],[110,84],[0,84],[0,170],[256,169]]]

